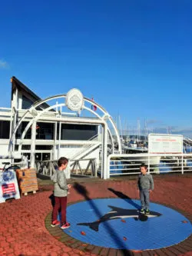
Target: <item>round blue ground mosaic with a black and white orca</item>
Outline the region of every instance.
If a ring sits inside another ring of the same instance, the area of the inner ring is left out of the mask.
[[[127,250],[165,248],[192,234],[190,221],[171,208],[151,203],[148,216],[138,209],[140,201],[120,198],[71,204],[67,208],[71,228],[64,232],[83,243]]]

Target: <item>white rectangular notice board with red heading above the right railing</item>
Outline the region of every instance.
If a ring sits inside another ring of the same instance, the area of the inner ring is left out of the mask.
[[[148,135],[148,152],[156,154],[183,153],[183,135]]]

